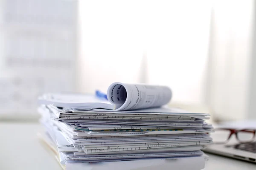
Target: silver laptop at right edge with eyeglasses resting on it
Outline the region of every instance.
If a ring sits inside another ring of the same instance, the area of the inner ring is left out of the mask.
[[[256,134],[247,133],[244,126],[218,126],[216,128],[215,133],[211,133],[211,137],[215,144],[211,144],[204,148],[204,152],[213,153],[221,156],[227,156],[234,159],[240,159],[244,161],[249,161],[256,163]],[[244,124],[243,124],[244,125]],[[248,124],[247,124],[248,125]],[[254,124],[256,125],[256,124]],[[227,130],[219,130],[219,129]],[[240,129],[239,133],[236,133],[234,130]],[[250,129],[256,129],[255,127]],[[233,133],[230,136],[230,133]],[[252,139],[250,142],[246,142],[246,140]],[[224,142],[223,142],[224,141]]]

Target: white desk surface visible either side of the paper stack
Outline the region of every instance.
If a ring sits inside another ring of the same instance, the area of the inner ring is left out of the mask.
[[[39,123],[0,122],[0,170],[61,170],[41,144]],[[207,154],[204,170],[256,170],[256,164]]]

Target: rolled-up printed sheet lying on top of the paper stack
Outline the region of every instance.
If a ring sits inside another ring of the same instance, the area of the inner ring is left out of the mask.
[[[172,91],[167,86],[115,82],[109,86],[107,97],[115,111],[127,111],[166,105],[172,99]]]

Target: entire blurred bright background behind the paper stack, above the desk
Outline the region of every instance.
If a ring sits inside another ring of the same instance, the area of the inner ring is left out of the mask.
[[[171,104],[205,105],[212,120],[256,118],[255,8],[253,0],[0,0],[0,120],[37,119],[44,92],[105,92],[117,81],[168,85]]]

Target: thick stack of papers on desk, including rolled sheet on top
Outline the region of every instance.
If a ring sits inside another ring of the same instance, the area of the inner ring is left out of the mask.
[[[204,122],[208,114],[163,106],[172,98],[164,86],[113,83],[107,98],[82,94],[39,98],[44,141],[58,150],[67,170],[118,167],[118,161],[127,164],[122,167],[127,170],[149,165],[204,168],[201,149],[212,143],[208,134],[212,125]]]

